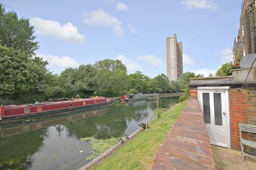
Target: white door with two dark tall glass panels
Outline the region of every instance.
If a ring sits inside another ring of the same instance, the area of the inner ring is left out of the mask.
[[[210,143],[230,148],[228,89],[198,89]]]

